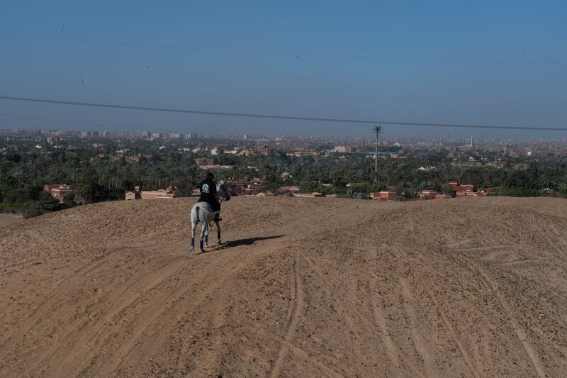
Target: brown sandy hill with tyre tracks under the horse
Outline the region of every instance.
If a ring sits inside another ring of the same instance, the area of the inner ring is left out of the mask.
[[[0,228],[0,376],[567,372],[567,201],[237,197],[189,256],[192,203]]]

